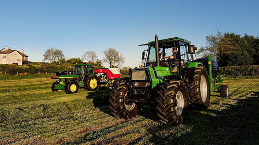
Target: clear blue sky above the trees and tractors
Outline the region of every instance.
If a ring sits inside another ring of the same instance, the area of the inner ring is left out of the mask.
[[[67,58],[116,48],[123,66],[138,67],[146,46],[158,38],[181,37],[196,47],[207,35],[259,34],[258,0],[0,0],[0,48],[25,50],[41,62],[50,47]],[[107,65],[105,65],[107,67]]]

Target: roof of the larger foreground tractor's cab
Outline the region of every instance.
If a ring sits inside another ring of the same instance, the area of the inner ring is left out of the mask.
[[[189,43],[190,44],[190,41],[188,41],[188,40],[185,40],[185,39],[180,38],[180,37],[173,37],[173,38],[167,38],[167,39],[158,40],[159,48],[172,48],[172,47],[175,47],[177,45],[177,43],[175,43],[173,45],[172,42],[176,42],[176,41],[181,41],[181,42]],[[138,46],[143,46],[143,45],[150,45],[150,46],[154,46],[155,47],[155,41],[151,41],[149,43],[141,44],[141,45],[138,45]]]

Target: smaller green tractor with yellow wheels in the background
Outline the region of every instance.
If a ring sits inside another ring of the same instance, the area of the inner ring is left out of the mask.
[[[78,88],[84,88],[88,91],[98,88],[99,79],[93,73],[91,64],[76,64],[75,74],[60,75],[59,80],[52,84],[52,91],[65,90],[67,94],[77,93]]]

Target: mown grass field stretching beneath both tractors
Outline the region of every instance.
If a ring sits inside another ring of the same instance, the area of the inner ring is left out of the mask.
[[[52,92],[54,80],[46,78],[0,80],[0,145],[259,145],[258,76],[224,81],[229,98],[212,93],[207,110],[188,110],[177,126],[160,123],[149,106],[133,119],[115,119],[111,89],[66,94]]]

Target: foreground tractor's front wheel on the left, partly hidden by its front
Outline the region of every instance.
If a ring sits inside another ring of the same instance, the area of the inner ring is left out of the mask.
[[[129,119],[135,117],[138,114],[137,104],[127,104],[129,99],[127,96],[128,87],[124,82],[117,88],[113,87],[112,92],[110,93],[110,109],[114,117],[121,119]]]

